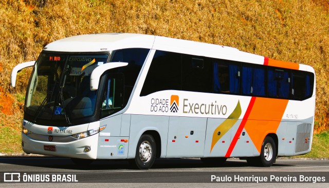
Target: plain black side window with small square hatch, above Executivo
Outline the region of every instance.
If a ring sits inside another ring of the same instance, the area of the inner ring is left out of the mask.
[[[182,90],[212,93],[211,58],[182,56]]]

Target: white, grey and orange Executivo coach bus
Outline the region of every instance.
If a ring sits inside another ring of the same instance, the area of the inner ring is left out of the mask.
[[[90,34],[47,45],[24,107],[26,153],[130,159],[229,157],[271,166],[310,152],[315,72],[235,48],[143,34]]]

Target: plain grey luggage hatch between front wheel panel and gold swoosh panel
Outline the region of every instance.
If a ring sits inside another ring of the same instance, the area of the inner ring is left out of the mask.
[[[169,118],[167,158],[203,157],[207,118]]]

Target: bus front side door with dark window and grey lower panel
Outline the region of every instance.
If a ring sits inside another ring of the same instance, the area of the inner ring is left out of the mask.
[[[100,125],[106,128],[99,133],[98,159],[125,159],[128,156],[128,140],[130,115],[117,114],[111,116],[124,107],[123,105],[123,76],[122,74],[108,74],[102,79],[104,93],[101,95]]]

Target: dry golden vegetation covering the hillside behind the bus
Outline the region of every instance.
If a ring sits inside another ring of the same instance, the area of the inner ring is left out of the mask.
[[[0,132],[19,130],[31,70],[10,87],[11,69],[53,40],[107,32],[144,33],[230,46],[313,66],[317,132],[329,129],[328,0],[2,0]],[[0,133],[1,134],[1,133]]]

